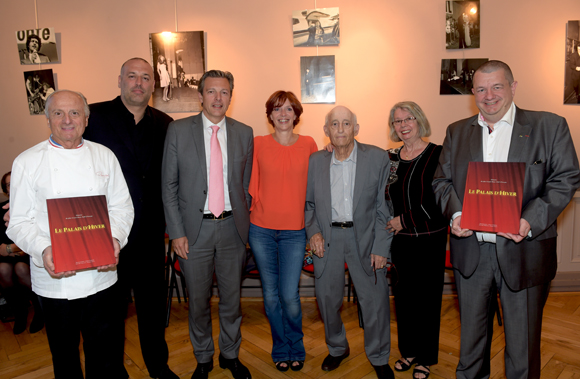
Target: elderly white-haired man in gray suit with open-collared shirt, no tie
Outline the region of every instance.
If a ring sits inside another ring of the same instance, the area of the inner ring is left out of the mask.
[[[365,351],[379,378],[394,378],[389,286],[386,265],[392,235],[385,200],[389,156],[376,146],[354,140],[359,125],[345,107],[326,115],[324,132],[332,153],[312,154],[308,167],[305,224],[314,253],[316,298],[329,355],[322,369],[331,371],[348,357],[340,307],[344,299],[344,263],[352,277],[365,325]]]

